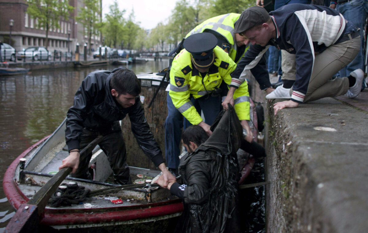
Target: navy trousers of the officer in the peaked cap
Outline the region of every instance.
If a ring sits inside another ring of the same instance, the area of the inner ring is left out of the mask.
[[[167,117],[165,121],[165,158],[167,166],[169,168],[178,168],[179,166],[179,155],[180,155],[180,139],[181,129],[183,128],[184,117],[174,106],[173,101],[167,92]],[[215,121],[217,114],[221,111],[221,97],[208,96],[201,97],[198,99],[191,99],[193,105],[196,106],[199,115],[201,110],[203,112],[205,123],[212,125]],[[200,108],[198,108],[198,106]],[[189,124],[190,125],[190,124]],[[185,126],[189,126],[185,124]],[[184,128],[185,129],[185,128]]]

